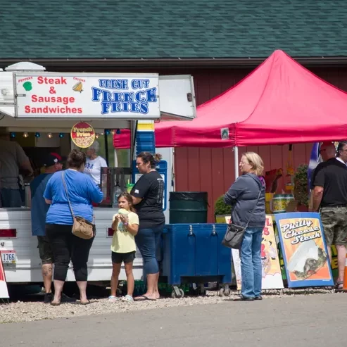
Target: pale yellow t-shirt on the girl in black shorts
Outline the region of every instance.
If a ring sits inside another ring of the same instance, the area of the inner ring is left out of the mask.
[[[139,216],[136,213],[130,212],[127,216],[130,225],[139,225]],[[136,251],[134,235],[127,231],[122,222],[118,222],[117,231],[113,234],[111,251],[115,253],[129,253]]]

